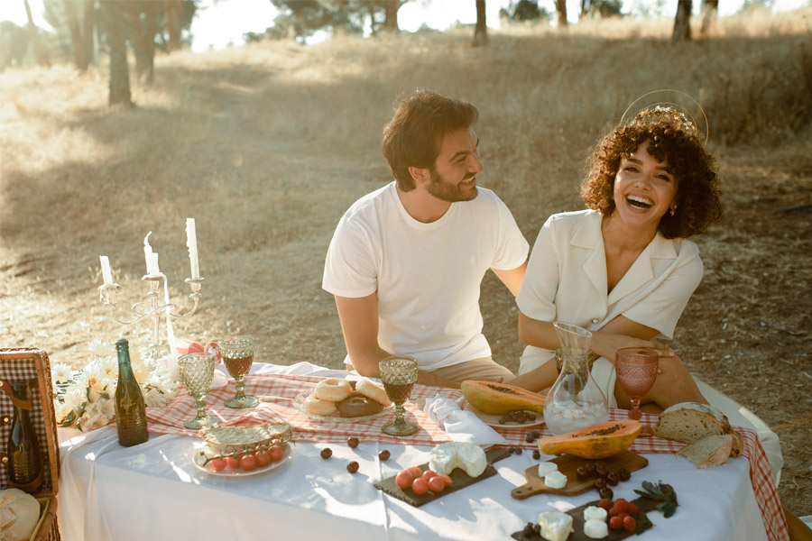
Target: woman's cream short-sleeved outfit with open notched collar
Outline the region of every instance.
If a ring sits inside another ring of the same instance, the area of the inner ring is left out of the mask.
[[[658,233],[607,295],[602,219],[595,210],[548,218],[533,245],[516,298],[521,313],[591,331],[600,330],[616,316],[625,316],[672,338],[679,316],[702,280],[697,245],[685,239],[669,240]],[[527,346],[519,373],[541,366],[553,355],[549,350]],[[592,375],[612,402],[613,365],[603,358],[598,361]]]

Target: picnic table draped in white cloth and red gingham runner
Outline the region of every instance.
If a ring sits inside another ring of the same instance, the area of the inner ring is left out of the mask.
[[[212,390],[206,399],[208,410],[229,424],[284,420],[293,429],[291,458],[251,476],[212,475],[195,466],[193,455],[202,442],[182,427],[194,410],[183,390],[166,408],[148,409],[151,437],[142,445],[121,447],[112,426],[86,434],[60,428],[62,538],[509,539],[527,522],[535,522],[541,511],[567,511],[597,500],[595,491],[512,498],[511,491],[526,481],[525,470],[540,462],[531,456],[535,444],[525,441],[527,430],[523,428],[498,429],[508,446],[519,446],[523,452],[494,463],[494,476],[420,507],[393,498],[374,482],[427,462],[430,449],[450,438],[413,400],[407,404],[407,417],[421,429],[402,438],[381,432],[391,416],[329,424],[292,407],[301,390],[312,389],[324,377],[347,375],[307,362],[292,366],[255,363],[252,374],[245,378],[245,390],[260,398],[261,405],[247,410],[222,405],[234,394],[233,381]],[[438,394],[461,397],[458,390],[417,385],[412,399]],[[623,410],[611,411],[611,418],[625,415]],[[643,422],[652,424],[656,416],[644,414]],[[663,481],[674,487],[679,500],[678,510],[670,518],[659,511],[649,513],[654,527],[643,533],[643,539],[789,538],[761,445],[752,431],[741,432],[743,456],[704,470],[673,454],[680,444],[656,437],[635,440],[632,451],[645,456],[649,464],[633,472],[630,481],[615,486],[614,498],[633,500],[633,490],[641,488],[641,481]],[[358,437],[360,445],[350,448],[348,436]],[[332,451],[328,459],[320,456],[325,447]],[[388,460],[378,456],[383,449],[391,453]],[[541,456],[541,460],[546,458]],[[351,461],[359,464],[358,472],[347,471]]]

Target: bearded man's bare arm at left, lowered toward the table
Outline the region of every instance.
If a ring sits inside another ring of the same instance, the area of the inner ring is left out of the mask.
[[[351,298],[336,295],[338,318],[344,333],[346,353],[349,353],[355,371],[367,378],[380,378],[378,362],[395,353],[389,353],[378,344],[378,296]],[[418,383],[459,389],[457,381],[419,371]]]

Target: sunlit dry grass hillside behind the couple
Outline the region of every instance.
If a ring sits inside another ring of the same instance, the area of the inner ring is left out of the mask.
[[[339,367],[344,343],[320,289],[338,218],[390,178],[380,133],[399,92],[429,87],[481,112],[485,170],[531,242],[553,212],[581,208],[582,162],[641,94],[703,96],[724,182],[724,222],[698,239],[706,278],[674,347],[691,370],[775,426],[780,494],[812,513],[812,67],[809,10],[725,19],[706,41],[673,44],[669,22],[262,43],[156,61],[135,110],[106,107],[105,67],[0,74],[0,333],[81,365],[93,337],[149,342],[97,300],[98,254],[123,286],[145,288],[143,236],[173,299],[189,291],[183,220],[198,223],[206,277],[178,334],[256,335],[259,359]],[[516,308],[490,274],[485,334],[515,370]]]

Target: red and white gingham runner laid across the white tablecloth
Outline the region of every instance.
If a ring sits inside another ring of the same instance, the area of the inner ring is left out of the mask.
[[[381,427],[392,420],[392,415],[384,415],[360,423],[325,423],[312,420],[308,415],[293,408],[293,399],[303,390],[312,391],[318,381],[324,378],[303,375],[256,374],[245,377],[245,393],[260,399],[256,408],[231,409],[223,402],[235,394],[234,382],[229,381],[222,389],[212,390],[206,397],[207,411],[223,419],[223,424],[232,426],[250,426],[259,423],[286,422],[291,425],[294,437],[299,441],[335,443],[344,442],[348,436],[356,436],[362,441],[377,441],[396,445],[437,445],[451,440],[446,432],[435,424],[429,416],[414,406],[417,399],[432,399],[439,395],[449,399],[461,398],[462,391],[415,385],[411,399],[406,404],[406,415],[420,425],[420,431],[414,436],[394,437],[383,434]],[[178,434],[197,436],[197,432],[183,427],[186,419],[195,416],[194,399],[182,387],[178,396],[165,408],[147,408],[150,432],[161,434]],[[610,420],[628,418],[628,411],[612,408]],[[641,422],[648,426],[657,423],[658,416],[642,414]],[[507,445],[525,449],[535,449],[535,443],[525,439],[529,428],[496,428],[507,440]],[[743,436],[743,455],[750,461],[750,479],[758,502],[764,527],[770,541],[789,540],[787,522],[781,509],[780,498],[775,482],[770,474],[767,456],[759,443],[755,432],[749,428],[736,427]],[[546,427],[541,429],[541,436],[552,436]],[[637,454],[675,453],[683,444],[659,437],[636,438],[632,451]]]

